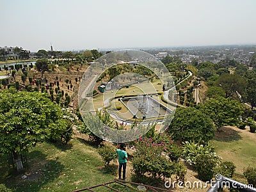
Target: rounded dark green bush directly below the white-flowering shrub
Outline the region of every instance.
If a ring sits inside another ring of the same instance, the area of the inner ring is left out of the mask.
[[[211,154],[200,154],[196,156],[195,163],[198,179],[203,181],[211,180],[218,161]]]

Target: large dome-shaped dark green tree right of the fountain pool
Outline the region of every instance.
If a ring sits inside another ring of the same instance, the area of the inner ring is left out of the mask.
[[[177,108],[172,122],[168,118],[164,125],[176,141],[209,141],[215,131],[211,118],[195,108]]]

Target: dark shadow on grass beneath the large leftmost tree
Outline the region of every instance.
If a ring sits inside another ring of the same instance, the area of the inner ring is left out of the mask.
[[[8,163],[0,166],[0,177],[8,188],[13,191],[40,191],[45,184],[58,178],[64,166],[58,161],[47,160],[45,154],[38,150],[28,153],[28,167],[20,172],[10,170]],[[22,179],[26,175],[26,179]]]

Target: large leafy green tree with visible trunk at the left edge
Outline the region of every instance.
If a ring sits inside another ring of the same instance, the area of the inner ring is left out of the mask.
[[[61,109],[38,92],[0,92],[0,153],[12,153],[17,170],[23,168],[19,154],[47,138],[49,125],[61,117]]]

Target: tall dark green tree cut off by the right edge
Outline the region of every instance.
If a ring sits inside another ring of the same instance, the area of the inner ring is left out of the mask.
[[[247,101],[250,102],[251,108],[256,106],[256,72],[247,72],[246,78],[248,84],[246,86]]]

